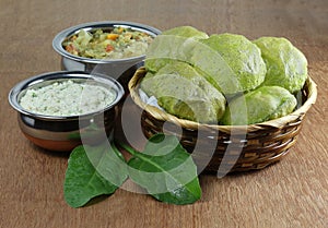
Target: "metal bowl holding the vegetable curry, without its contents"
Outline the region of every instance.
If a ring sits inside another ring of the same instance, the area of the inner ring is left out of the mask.
[[[83,57],[78,57],[69,53],[62,47],[62,43],[68,37],[78,34],[81,29],[93,31],[96,28],[102,29],[113,29],[114,27],[122,26],[128,27],[134,31],[144,32],[152,37],[161,34],[155,27],[151,27],[149,25],[143,25],[133,22],[122,22],[122,21],[105,21],[105,22],[92,22],[80,24],[77,26],[72,26],[67,28],[59,34],[52,40],[54,49],[61,56],[61,70],[67,71],[86,71],[86,72],[96,72],[103,73],[112,76],[113,79],[118,79],[126,70],[134,65],[136,63],[144,60],[145,56],[132,57],[127,59],[89,59]]]

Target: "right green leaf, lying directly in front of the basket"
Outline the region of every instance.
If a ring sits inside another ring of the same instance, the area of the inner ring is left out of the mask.
[[[175,136],[154,135],[143,153],[126,149],[133,155],[130,178],[159,201],[190,204],[201,197],[197,167]]]

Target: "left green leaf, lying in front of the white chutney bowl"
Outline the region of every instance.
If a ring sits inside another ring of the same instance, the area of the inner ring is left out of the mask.
[[[113,144],[78,146],[66,171],[65,200],[72,207],[83,206],[95,196],[113,194],[127,177],[126,163]]]

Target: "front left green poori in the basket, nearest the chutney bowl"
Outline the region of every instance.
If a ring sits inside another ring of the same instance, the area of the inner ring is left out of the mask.
[[[218,123],[225,111],[225,98],[200,73],[184,62],[173,62],[156,74],[148,74],[141,88],[155,96],[168,113],[203,123]]]

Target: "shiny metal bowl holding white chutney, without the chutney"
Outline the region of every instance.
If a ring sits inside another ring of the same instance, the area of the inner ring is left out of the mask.
[[[63,80],[113,88],[116,92],[116,98],[102,110],[68,117],[34,113],[20,105],[20,99],[27,88],[40,87]],[[33,76],[17,83],[9,93],[9,103],[19,112],[19,125],[30,141],[50,151],[71,151],[82,143],[95,144],[110,134],[117,118],[118,104],[124,94],[122,86],[107,75],[60,71]]]

